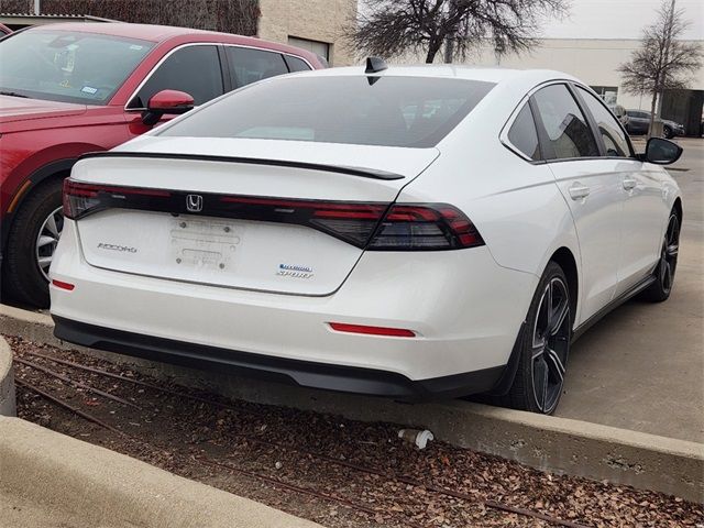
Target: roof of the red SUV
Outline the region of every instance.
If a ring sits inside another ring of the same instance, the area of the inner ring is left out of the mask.
[[[62,22],[56,24],[43,24],[31,28],[25,31],[67,31],[92,33],[99,35],[112,35],[123,38],[139,38],[150,41],[157,44],[169,40],[186,40],[194,42],[218,42],[224,44],[250,45],[254,47],[266,47],[278,52],[292,53],[294,55],[314,57],[315,54],[300,50],[298,47],[288,46],[268,41],[263,41],[253,36],[242,36],[231,33],[220,33],[217,31],[195,30],[191,28],[178,28],[173,25],[156,24],[130,24],[127,22]]]

